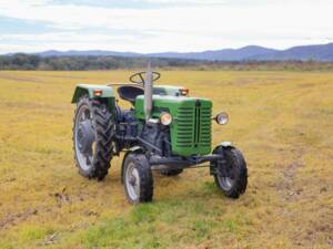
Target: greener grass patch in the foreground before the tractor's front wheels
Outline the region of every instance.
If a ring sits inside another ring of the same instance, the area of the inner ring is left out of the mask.
[[[192,200],[143,204],[123,217],[91,227],[79,240],[85,248],[168,248],[174,241],[199,243],[219,226],[210,208],[208,203]]]

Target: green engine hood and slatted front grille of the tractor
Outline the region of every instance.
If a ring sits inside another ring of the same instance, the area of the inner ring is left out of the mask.
[[[196,107],[196,103],[200,107]],[[135,101],[135,115],[144,120],[144,96]],[[211,152],[212,102],[206,98],[153,95],[152,118],[169,112],[172,153],[180,156],[206,155]]]

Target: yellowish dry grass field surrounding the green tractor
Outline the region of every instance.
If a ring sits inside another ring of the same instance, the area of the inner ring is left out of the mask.
[[[75,83],[130,72],[0,72],[0,248],[333,248],[333,73],[162,72],[212,98],[213,143],[244,153],[249,186],[223,197],[209,170],[154,175],[154,201],[128,204],[120,159],[103,181],[73,163]]]

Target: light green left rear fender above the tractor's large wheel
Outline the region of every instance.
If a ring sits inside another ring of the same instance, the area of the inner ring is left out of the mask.
[[[89,97],[91,97],[91,98],[97,97],[97,96],[93,95],[94,90],[101,90],[102,91],[102,95],[99,96],[99,97],[114,98],[113,90],[112,90],[111,86],[78,84],[77,89],[75,89],[75,92],[74,92],[74,95],[73,95],[73,98],[72,98],[72,103],[77,103],[83,94],[88,94]]]

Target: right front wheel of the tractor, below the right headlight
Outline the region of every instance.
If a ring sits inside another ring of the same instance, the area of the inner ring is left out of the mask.
[[[221,162],[211,163],[216,186],[226,197],[239,198],[248,186],[248,168],[242,153],[234,147],[218,146],[213,154],[223,156]]]

